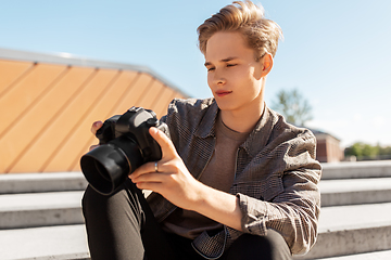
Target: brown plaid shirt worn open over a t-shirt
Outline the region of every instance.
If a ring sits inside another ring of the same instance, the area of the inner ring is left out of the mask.
[[[215,144],[218,107],[214,99],[174,100],[162,118],[172,141],[191,174],[198,179]],[[230,194],[239,197],[242,230],[265,235],[279,232],[292,253],[305,253],[315,244],[320,212],[320,164],[315,160],[313,133],[285,121],[268,107],[247,141],[239,147]],[[176,208],[152,193],[148,202],[157,221]],[[210,236],[203,232],[192,245],[207,258],[218,258],[243,232],[225,226]]]

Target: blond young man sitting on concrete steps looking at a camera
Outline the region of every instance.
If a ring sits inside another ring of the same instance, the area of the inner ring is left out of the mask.
[[[150,129],[162,159],[111,196],[87,188],[92,259],[290,259],[316,240],[316,140],[264,102],[278,25],[234,2],[198,31],[214,98],[174,100],[162,118],[172,140]]]

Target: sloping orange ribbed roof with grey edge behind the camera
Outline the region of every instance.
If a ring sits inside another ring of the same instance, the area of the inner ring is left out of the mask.
[[[187,94],[146,67],[0,49],[0,173],[79,171],[91,123]]]

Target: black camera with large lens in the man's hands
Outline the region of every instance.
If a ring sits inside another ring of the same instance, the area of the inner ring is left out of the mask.
[[[96,134],[100,145],[80,159],[81,171],[96,191],[110,195],[138,167],[162,158],[160,145],[149,134],[150,127],[169,138],[167,125],[142,107],[134,106],[104,121]]]

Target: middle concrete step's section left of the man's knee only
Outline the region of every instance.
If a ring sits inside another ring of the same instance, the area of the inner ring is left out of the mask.
[[[81,197],[80,191],[0,195],[0,229],[84,223]]]

